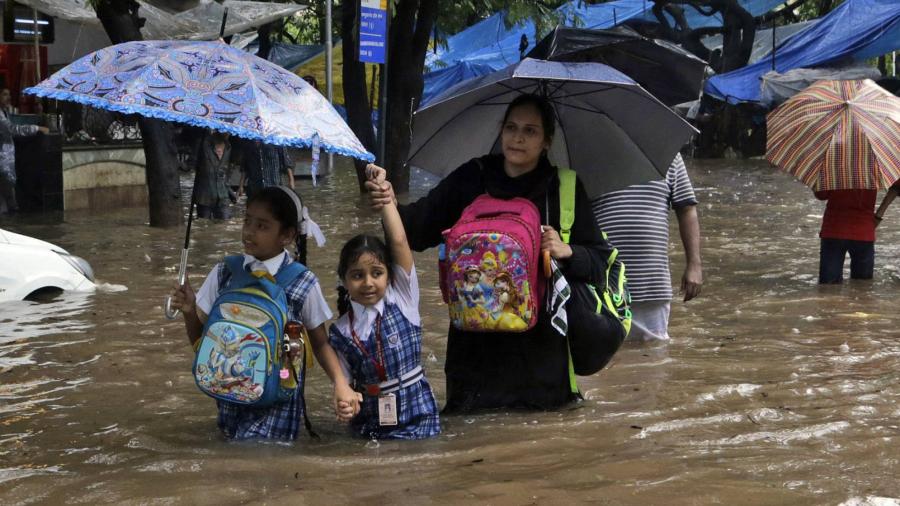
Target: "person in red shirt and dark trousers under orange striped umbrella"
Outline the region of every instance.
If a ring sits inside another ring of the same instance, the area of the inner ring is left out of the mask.
[[[850,253],[850,278],[872,279],[875,269],[876,190],[827,190],[815,192],[825,200],[819,232],[819,283],[840,283],[844,259]]]

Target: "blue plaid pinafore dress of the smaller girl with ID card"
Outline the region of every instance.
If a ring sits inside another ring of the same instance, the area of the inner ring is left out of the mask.
[[[346,320],[348,315],[341,318]],[[329,334],[331,346],[347,360],[357,386],[381,382],[374,364],[356,347],[352,337],[343,335],[338,325],[332,325]],[[387,300],[381,317],[381,339],[388,379],[399,378],[421,365],[422,328],[410,323],[400,307]],[[362,343],[370,356],[377,357],[374,326]],[[397,396],[397,425],[379,425],[378,397],[364,395],[359,414],[350,422],[353,431],[377,439],[424,439],[440,434],[437,403],[424,375],[394,395]]]

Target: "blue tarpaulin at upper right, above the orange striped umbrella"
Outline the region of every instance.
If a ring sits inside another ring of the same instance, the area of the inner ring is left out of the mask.
[[[900,2],[847,0],[812,28],[791,37],[775,52],[775,70],[840,65],[900,49]],[[706,93],[730,103],[758,102],[760,78],[771,58],[713,76]]]

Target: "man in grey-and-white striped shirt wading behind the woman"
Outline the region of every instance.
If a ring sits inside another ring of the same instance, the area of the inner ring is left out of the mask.
[[[687,263],[681,276],[685,302],[700,295],[700,220],[697,198],[681,154],[665,179],[629,186],[591,203],[600,228],[619,249],[631,291],[629,339],[669,339],[672,279],[669,272],[669,209],[675,209]]]

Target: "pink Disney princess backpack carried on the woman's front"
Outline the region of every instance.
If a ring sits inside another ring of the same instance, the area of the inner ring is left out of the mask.
[[[453,326],[475,332],[534,327],[545,283],[537,207],[519,197],[481,195],[443,235],[441,294]]]

